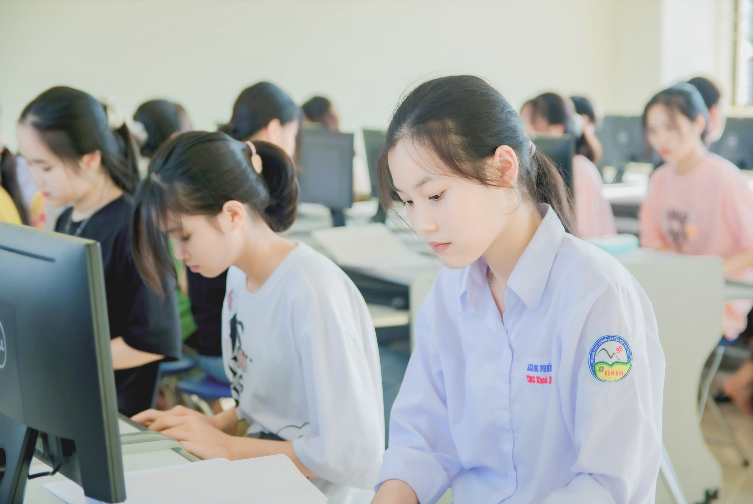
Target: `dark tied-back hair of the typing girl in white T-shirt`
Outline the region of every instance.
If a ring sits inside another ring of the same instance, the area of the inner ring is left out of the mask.
[[[295,166],[281,148],[254,142],[261,174],[251,162],[251,148],[224,133],[193,131],[160,147],[139,185],[133,209],[133,259],[145,283],[163,292],[163,272],[175,275],[163,230],[176,215],[209,215],[227,201],[248,205],[276,232],[295,220],[298,182]]]

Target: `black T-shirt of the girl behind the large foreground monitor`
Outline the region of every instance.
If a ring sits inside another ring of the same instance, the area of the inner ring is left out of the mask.
[[[110,337],[123,337],[129,347],[163,355],[181,356],[181,322],[174,286],[166,283],[166,298],[149,289],[133,264],[130,218],[133,199],[127,194],[94,213],[88,221],[71,221],[72,208],[62,212],[55,231],[99,242],[105,273]],[[70,222],[70,225],[69,225]],[[85,222],[85,224],[84,224]],[[66,230],[67,228],[67,230]],[[131,417],[151,408],[160,361],[114,371],[117,409]]]

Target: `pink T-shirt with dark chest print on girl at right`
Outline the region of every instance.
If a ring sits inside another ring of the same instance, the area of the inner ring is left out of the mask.
[[[709,154],[690,173],[675,163],[659,166],[639,212],[641,245],[728,259],[753,250],[753,191],[748,177],[723,157]],[[753,281],[753,270],[733,276]],[[730,340],[748,325],[753,301],[724,304],[722,332]]]

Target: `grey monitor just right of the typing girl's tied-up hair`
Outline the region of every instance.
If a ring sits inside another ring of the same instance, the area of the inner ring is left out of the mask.
[[[304,129],[300,145],[300,201],[331,209],[353,203],[353,134]]]

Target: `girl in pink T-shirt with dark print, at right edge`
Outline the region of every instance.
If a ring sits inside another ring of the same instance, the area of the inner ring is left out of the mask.
[[[677,84],[654,96],[643,113],[651,148],[666,161],[648,183],[639,218],[641,245],[692,255],[718,255],[727,277],[753,281],[753,191],[729,161],[706,150],[709,111],[691,84]],[[753,301],[724,304],[722,331],[734,340],[748,323]],[[739,373],[753,377],[750,363]],[[730,380],[739,381],[740,376]],[[751,397],[734,387],[725,392],[753,414]]]

